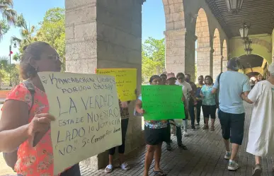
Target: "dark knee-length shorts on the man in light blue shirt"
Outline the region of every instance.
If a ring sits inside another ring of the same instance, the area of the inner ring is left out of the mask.
[[[218,112],[219,122],[222,126],[222,137],[230,139],[231,143],[241,145],[244,138],[244,116],[243,114],[230,114],[227,112]]]

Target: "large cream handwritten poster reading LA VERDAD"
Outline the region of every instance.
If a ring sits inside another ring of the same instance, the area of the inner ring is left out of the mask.
[[[122,144],[115,78],[38,73],[50,104],[54,174]]]

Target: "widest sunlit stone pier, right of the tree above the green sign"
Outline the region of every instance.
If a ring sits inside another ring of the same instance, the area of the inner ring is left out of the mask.
[[[183,0],[163,0],[166,16],[166,71],[185,71],[185,14]]]

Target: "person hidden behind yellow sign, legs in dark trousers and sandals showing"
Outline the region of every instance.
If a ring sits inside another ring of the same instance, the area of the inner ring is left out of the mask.
[[[118,146],[118,153],[119,153],[119,162],[120,168],[122,170],[130,170],[130,166],[125,162],[125,136],[127,134],[127,125],[128,125],[128,118],[130,117],[130,113],[128,111],[128,102],[121,102],[119,100],[120,105],[120,115],[121,115],[121,131],[122,131],[122,145]],[[105,172],[110,173],[113,172],[113,155],[115,154],[115,148],[110,148],[108,150],[108,165],[105,168]]]

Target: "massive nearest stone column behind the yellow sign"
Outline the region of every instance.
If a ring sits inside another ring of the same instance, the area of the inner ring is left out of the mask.
[[[66,0],[66,69],[93,74],[102,68],[136,68],[137,88],[142,83],[142,0]],[[130,105],[128,153],[144,144],[142,119]],[[92,148],[91,148],[92,150]],[[108,153],[81,162],[92,169],[108,164]]]

